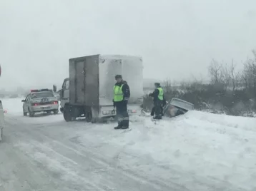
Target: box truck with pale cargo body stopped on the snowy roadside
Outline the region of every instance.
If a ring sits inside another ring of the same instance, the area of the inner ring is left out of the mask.
[[[66,121],[84,116],[96,123],[116,115],[113,107],[114,76],[122,74],[131,97],[129,115],[140,115],[143,102],[143,65],[138,56],[94,55],[69,59],[69,78],[60,92],[61,112]]]

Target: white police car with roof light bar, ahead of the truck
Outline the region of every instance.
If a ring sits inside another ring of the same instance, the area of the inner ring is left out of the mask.
[[[31,90],[26,99],[21,101],[23,102],[24,116],[27,113],[30,117],[39,112],[59,113],[59,101],[49,89]]]

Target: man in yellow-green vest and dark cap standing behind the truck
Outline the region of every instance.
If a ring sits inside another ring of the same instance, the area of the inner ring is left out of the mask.
[[[117,83],[114,85],[114,108],[117,108],[118,125],[114,129],[129,128],[129,115],[127,104],[130,97],[129,86],[126,81],[123,81],[121,75],[115,76]]]

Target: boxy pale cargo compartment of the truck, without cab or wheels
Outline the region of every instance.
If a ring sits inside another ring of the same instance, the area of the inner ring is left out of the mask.
[[[114,76],[122,74],[131,98],[142,104],[143,66],[139,56],[94,55],[69,59],[69,101],[73,105],[113,105]]]

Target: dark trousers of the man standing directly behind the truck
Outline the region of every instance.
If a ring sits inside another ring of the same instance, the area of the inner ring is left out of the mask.
[[[119,127],[129,127],[129,115],[127,111],[127,103],[115,103],[117,108],[117,120]]]

